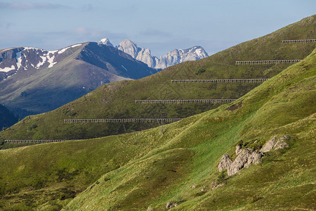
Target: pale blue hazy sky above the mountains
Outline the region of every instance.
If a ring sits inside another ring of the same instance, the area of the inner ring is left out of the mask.
[[[209,55],[314,15],[315,0],[0,0],[0,49],[131,39],[152,55]],[[315,37],[312,37],[315,38]]]

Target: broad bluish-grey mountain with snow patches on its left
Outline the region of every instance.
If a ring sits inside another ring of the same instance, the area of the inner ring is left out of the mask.
[[[112,46],[88,42],[58,51],[1,50],[0,72],[1,103],[42,113],[102,84],[139,79],[157,70]]]

